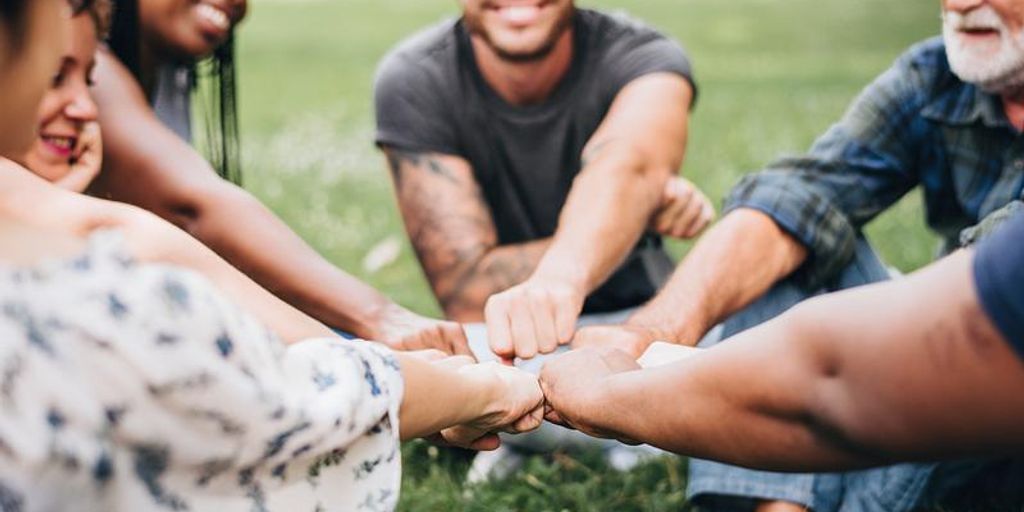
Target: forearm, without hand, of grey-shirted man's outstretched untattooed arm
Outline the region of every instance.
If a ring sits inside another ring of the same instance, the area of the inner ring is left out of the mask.
[[[568,281],[585,294],[600,286],[640,240],[674,172],[608,142],[572,184],[558,230],[535,275]]]

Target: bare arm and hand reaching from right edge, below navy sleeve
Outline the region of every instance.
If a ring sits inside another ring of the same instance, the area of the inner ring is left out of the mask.
[[[676,365],[591,381],[569,360],[546,375],[582,396],[568,416],[585,429],[751,467],[1019,451],[1024,365],[981,310],[971,258],[813,299]],[[573,401],[546,390],[556,410]]]

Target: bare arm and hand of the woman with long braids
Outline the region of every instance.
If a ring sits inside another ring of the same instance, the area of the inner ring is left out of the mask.
[[[410,342],[449,351],[465,345],[459,326],[429,322],[397,306],[322,258],[248,193],[219,179],[160,123],[134,79],[111,54],[100,52],[96,75],[105,142],[96,194],[170,220],[328,325],[396,348],[413,348]]]

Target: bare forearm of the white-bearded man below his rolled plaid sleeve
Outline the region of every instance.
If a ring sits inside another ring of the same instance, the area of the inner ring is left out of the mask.
[[[767,215],[736,210],[686,255],[663,291],[628,324],[695,345],[729,314],[796,270],[807,250]]]

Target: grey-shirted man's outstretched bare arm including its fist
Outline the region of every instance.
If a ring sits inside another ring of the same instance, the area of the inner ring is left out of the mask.
[[[587,294],[623,262],[682,164],[692,89],[655,74],[623,89],[584,152],[558,229],[525,283],[486,305],[492,349],[529,358],[568,343]]]

